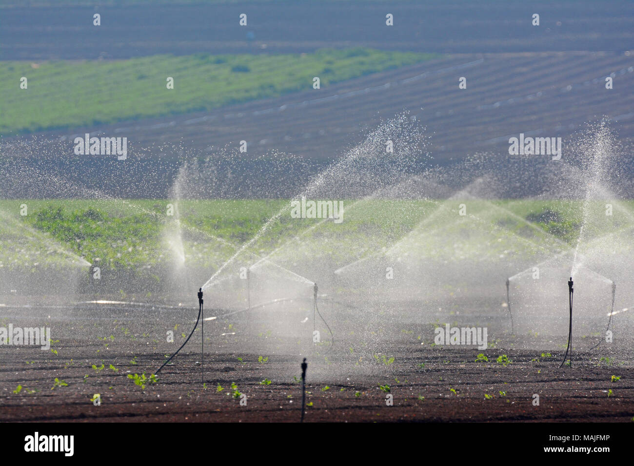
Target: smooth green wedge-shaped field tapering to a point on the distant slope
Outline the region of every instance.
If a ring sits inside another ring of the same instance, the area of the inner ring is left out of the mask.
[[[159,117],[313,89],[437,55],[355,48],[285,55],[0,61],[0,134]],[[27,89],[20,89],[26,77]],[[174,89],[167,89],[167,77]]]

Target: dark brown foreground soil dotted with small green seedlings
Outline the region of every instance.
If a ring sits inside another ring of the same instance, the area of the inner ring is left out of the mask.
[[[9,308],[4,314],[11,313],[20,311]],[[24,327],[46,321],[57,353],[3,347],[0,420],[297,422],[304,357],[307,422],[626,422],[634,416],[634,373],[623,362],[631,360],[631,339],[593,350],[594,340],[580,342],[573,368],[559,368],[564,338],[543,337],[535,345],[539,350],[514,349],[518,337],[505,332],[501,313],[488,320],[496,339],[484,350],[434,346],[431,327],[412,324],[402,314],[389,318],[387,326],[371,325],[377,332],[368,333],[359,330],[362,316],[339,314],[330,321],[331,347],[325,329],[321,344],[311,344],[310,313],[287,310],[268,318],[239,313],[205,322],[205,389],[200,326],[153,383],[150,374],[184,341],[181,332],[191,331],[196,314],[192,308],[88,306],[11,316]],[[295,323],[292,328],[288,321]],[[174,343],[165,342],[166,329],[174,330]],[[480,353],[488,361],[476,362]],[[496,362],[502,354],[512,362]],[[128,377],[144,373],[145,387]],[[95,394],[100,405],[91,401]],[[387,405],[389,395],[393,406]]]

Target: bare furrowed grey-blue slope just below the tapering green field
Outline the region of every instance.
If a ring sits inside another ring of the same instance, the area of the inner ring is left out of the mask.
[[[604,77],[612,74],[619,85],[605,89]],[[458,89],[460,76],[468,77],[468,90]],[[342,157],[346,150],[363,141],[368,131],[403,111],[425,128],[425,135],[429,136],[425,150],[433,155],[434,164],[450,165],[477,153],[508,154],[509,138],[521,133],[562,137],[563,155],[569,157],[574,155],[570,142],[586,124],[604,117],[611,119],[611,127],[623,146],[631,145],[634,97],[628,89],[633,77],[634,61],[626,54],[451,56],[353,79],[328,89],[214,112],[86,127],[62,136],[37,134],[34,145],[41,153],[55,158],[47,161],[40,155],[29,156],[29,148],[27,153],[16,149],[12,160],[25,166],[37,165],[44,171],[72,171],[82,183],[117,197],[161,197],[167,195],[166,186],[178,174],[182,157],[213,155],[223,150],[233,153],[245,134],[249,135],[249,158],[243,161],[245,172],[257,171],[257,167],[249,165],[250,157],[276,151],[324,162]],[[540,115],[539,119],[535,115]],[[107,164],[108,159],[75,160],[72,141],[84,133],[133,134],[131,167],[113,177],[109,171],[123,165],[91,170],[91,164]],[[4,138],[4,148],[13,154],[14,145],[28,144],[31,138]],[[134,165],[141,160],[142,165]],[[621,165],[626,171],[634,169],[631,164],[623,157]],[[148,172],[154,177],[148,177]],[[271,186],[278,184],[271,180]],[[29,193],[18,190],[13,195],[24,197]],[[275,197],[270,193],[268,196]]]

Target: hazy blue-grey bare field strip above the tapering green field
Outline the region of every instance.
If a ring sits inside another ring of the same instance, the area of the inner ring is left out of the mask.
[[[633,8],[623,1],[588,0],[18,6],[3,8],[0,56],[75,60],[359,45],[439,53],[627,50],[634,43]],[[95,12],[103,18],[98,29]],[[240,13],[247,14],[247,27],[237,27]],[[386,30],[387,13],[394,27]],[[540,14],[540,27],[531,24],[534,13]]]

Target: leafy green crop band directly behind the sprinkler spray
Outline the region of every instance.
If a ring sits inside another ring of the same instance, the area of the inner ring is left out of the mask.
[[[399,244],[443,260],[456,254],[495,259],[573,247],[583,218],[582,202],[565,200],[344,200],[340,224],[291,218],[285,200],[181,200],[169,216],[172,202],[1,200],[0,267],[28,269],[72,254],[112,269],[141,270],[169,263],[175,237],[186,264],[210,269],[253,238],[249,259],[276,249],[285,259],[318,251],[344,266]],[[467,216],[458,214],[463,203]],[[605,216],[605,202],[595,204],[586,235],[631,234],[634,202],[614,201],[612,216]]]

